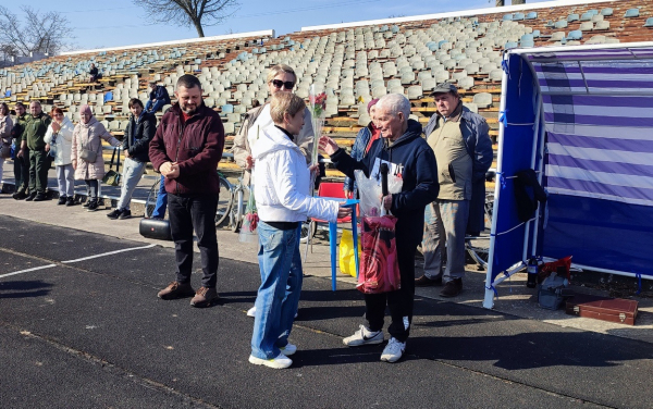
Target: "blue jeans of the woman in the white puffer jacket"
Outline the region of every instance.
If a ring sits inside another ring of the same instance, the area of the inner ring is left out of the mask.
[[[288,343],[301,293],[300,228],[258,225],[261,286],[251,335],[251,355],[257,358],[275,358]]]

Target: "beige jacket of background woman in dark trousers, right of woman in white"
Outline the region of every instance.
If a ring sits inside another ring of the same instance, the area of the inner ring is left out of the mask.
[[[73,131],[73,146],[71,159],[77,161],[75,170],[75,178],[84,179],[101,179],[104,177],[104,159],[102,158],[102,139],[111,144],[113,147],[120,146],[120,140],[115,139],[104,128],[95,116],[87,124],[79,122]],[[83,149],[88,149],[97,153],[95,162],[86,162],[79,158]]]

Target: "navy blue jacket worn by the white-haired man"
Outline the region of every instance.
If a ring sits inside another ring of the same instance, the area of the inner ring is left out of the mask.
[[[335,168],[349,177],[360,169],[369,177],[377,160],[387,161],[402,174],[402,193],[392,196],[390,211],[397,216],[397,245],[415,246],[422,239],[424,208],[438,198],[438,165],[433,150],[421,137],[421,125],[408,120],[408,128],[387,147],[385,138],[372,142],[370,151],[361,160],[355,160],[344,149],[331,156]]]

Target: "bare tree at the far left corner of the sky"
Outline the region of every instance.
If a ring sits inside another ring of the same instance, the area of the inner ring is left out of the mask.
[[[0,47],[9,47],[7,50],[13,50],[15,55],[29,55],[32,52],[54,54],[67,46],[65,39],[72,38],[67,18],[54,11],[39,12],[29,7],[21,7],[21,10],[23,23],[0,5]]]

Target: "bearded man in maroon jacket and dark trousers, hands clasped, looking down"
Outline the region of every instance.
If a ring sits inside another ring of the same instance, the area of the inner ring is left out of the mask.
[[[176,280],[159,292],[161,299],[194,296],[190,305],[208,307],[218,300],[218,237],[215,208],[220,181],[218,162],[224,147],[220,115],[201,100],[201,85],[194,75],[176,84],[175,103],[161,119],[149,156],[165,177],[170,231],[177,263]],[[190,286],[193,230],[201,257],[204,277],[197,293]]]

